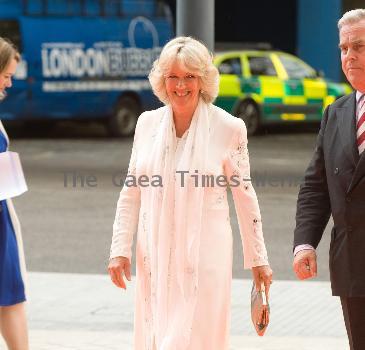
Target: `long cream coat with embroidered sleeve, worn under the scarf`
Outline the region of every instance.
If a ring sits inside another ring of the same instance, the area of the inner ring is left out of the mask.
[[[167,108],[167,107],[163,107]],[[140,176],[144,169],[161,121],[162,109],[143,113],[136,127],[129,165],[129,175]],[[159,112],[160,111],[160,112]],[[208,174],[225,176],[231,182],[234,204],[243,244],[244,267],[267,265],[268,258],[262,233],[260,209],[250,181],[247,133],[244,122],[211,106],[208,143]],[[146,340],[151,333],[148,321],[148,291],[144,281],[145,248],[149,232],[149,187],[124,186],[117,204],[113,225],[110,257],[131,259],[134,233],[137,232],[137,282],[135,308],[135,350],[150,349]],[[199,290],[188,350],[228,350],[232,280],[232,231],[227,188],[206,187],[204,190],[203,230],[200,238]],[[178,247],[176,247],[178,249]],[[173,298],[172,298],[173,299]],[[173,300],[171,301],[173,302]],[[249,312],[249,310],[246,310]]]

